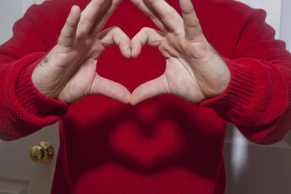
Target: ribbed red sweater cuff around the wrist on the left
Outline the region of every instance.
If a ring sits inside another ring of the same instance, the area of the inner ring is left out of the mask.
[[[38,117],[46,117],[62,109],[67,109],[68,105],[61,101],[46,97],[33,85],[32,72],[41,60],[42,59],[35,61],[21,72],[16,82],[16,97],[28,113]]]

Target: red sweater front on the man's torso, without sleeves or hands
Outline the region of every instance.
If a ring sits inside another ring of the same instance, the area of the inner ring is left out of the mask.
[[[129,38],[142,27],[157,29],[127,3],[122,2],[105,28],[119,26]],[[100,76],[130,92],[164,69],[159,50],[147,46],[137,59],[122,57],[114,46],[97,62]],[[58,160],[71,193],[221,194],[225,130],[226,122],[210,108],[178,97],[162,95],[131,106],[89,96],[72,104],[61,122]]]

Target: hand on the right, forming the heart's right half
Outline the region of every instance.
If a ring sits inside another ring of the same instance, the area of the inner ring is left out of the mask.
[[[143,28],[131,40],[132,57],[146,44],[157,47],[166,58],[159,78],[138,86],[130,104],[162,94],[178,96],[192,103],[223,93],[230,71],[206,40],[191,0],[180,0],[183,18],[164,0],[131,0],[162,30]]]

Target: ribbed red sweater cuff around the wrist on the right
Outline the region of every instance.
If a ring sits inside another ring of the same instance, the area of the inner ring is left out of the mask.
[[[214,109],[227,120],[227,115],[235,116],[241,113],[250,102],[254,93],[256,77],[255,72],[249,66],[241,65],[247,63],[249,59],[241,59],[241,63],[233,62],[227,58],[223,59],[231,74],[226,90],[221,95],[205,100],[199,105]]]

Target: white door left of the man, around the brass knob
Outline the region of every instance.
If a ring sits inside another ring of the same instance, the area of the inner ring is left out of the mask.
[[[13,24],[27,8],[43,1],[0,0],[0,45],[12,36]],[[29,157],[31,147],[41,141],[54,148],[49,163],[34,163]],[[0,141],[0,194],[50,194],[58,147],[57,124],[14,142]]]

